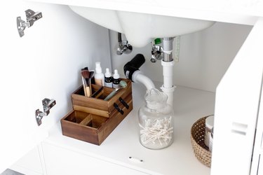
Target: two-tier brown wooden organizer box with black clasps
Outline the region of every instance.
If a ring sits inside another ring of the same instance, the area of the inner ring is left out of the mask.
[[[67,137],[100,145],[133,109],[131,81],[108,101],[114,88],[92,85],[92,97],[85,97],[83,87],[72,94],[73,110],[60,120],[62,134]]]

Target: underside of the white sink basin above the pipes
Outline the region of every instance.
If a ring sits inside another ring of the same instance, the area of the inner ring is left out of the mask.
[[[215,22],[163,15],[69,6],[75,13],[108,29],[126,35],[134,47],[143,47],[152,38],[174,37],[210,27]]]

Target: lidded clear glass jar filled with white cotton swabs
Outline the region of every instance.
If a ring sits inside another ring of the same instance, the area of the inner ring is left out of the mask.
[[[149,149],[173,144],[173,109],[167,95],[153,88],[145,94],[146,104],[139,109],[140,143]]]

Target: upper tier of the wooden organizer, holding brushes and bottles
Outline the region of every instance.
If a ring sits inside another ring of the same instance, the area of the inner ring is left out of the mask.
[[[132,85],[131,80],[128,79],[121,79],[125,80],[127,83],[127,87],[119,90],[114,97],[109,99],[108,101],[104,101],[103,99],[107,97],[110,92],[114,90],[114,88],[110,87],[102,87],[102,90],[100,93],[98,93],[98,97],[94,98],[93,95],[98,90],[100,90],[101,86],[99,85],[92,85],[93,94],[92,97],[86,97],[84,96],[83,92],[83,86],[79,87],[78,90],[73,92],[72,94],[72,105],[73,109],[76,111],[83,111],[86,113],[93,113],[97,116],[104,116],[106,118],[109,118],[112,116],[112,113],[114,111],[114,103],[120,104],[119,98],[125,99],[128,96],[132,97]],[[126,101],[129,102],[129,101]]]

